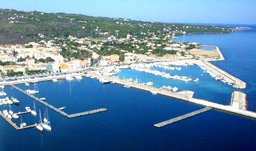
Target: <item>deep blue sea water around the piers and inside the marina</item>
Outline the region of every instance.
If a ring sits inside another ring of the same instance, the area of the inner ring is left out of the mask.
[[[245,25],[229,25],[245,26]],[[247,109],[256,112],[256,26],[227,34],[180,35],[175,42],[197,42],[215,45],[225,58],[211,61],[229,74],[246,82],[245,89],[216,81],[200,67],[181,67],[168,70],[152,67],[152,70],[200,79],[198,82],[175,81],[164,77],[122,69],[118,77],[140,79],[140,83],[154,82],[152,86],[176,86],[178,91],[195,91],[194,97],[219,104],[229,105],[231,93],[246,93]],[[179,67],[179,66],[178,66]],[[202,76],[201,76],[202,75]],[[34,85],[17,84],[22,90]],[[40,91],[35,96],[44,97],[54,107],[65,107],[63,111],[74,114],[92,109],[107,111],[92,115],[67,118],[48,108],[52,131],[38,132],[33,127],[16,131],[0,117],[0,150],[255,150],[256,121],[216,109],[172,123],[161,128],[154,124],[169,120],[191,111],[202,109],[182,100],[152,95],[148,91],[124,88],[119,84],[102,84],[97,79],[84,77],[82,81],[44,81],[36,85]],[[0,106],[0,110],[25,111],[29,106],[42,118],[45,106],[15,88],[6,86],[8,97],[20,101],[19,106]],[[39,116],[30,113],[12,119],[16,125],[38,123]]]

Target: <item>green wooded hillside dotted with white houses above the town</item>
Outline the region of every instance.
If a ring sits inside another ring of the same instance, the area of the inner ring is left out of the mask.
[[[144,22],[130,19],[91,17],[67,13],[22,12],[0,9],[0,44],[26,44],[69,35],[124,38],[129,35],[179,35],[187,33],[230,33],[233,28]],[[41,35],[38,35],[38,34]],[[44,35],[44,36],[42,36]]]

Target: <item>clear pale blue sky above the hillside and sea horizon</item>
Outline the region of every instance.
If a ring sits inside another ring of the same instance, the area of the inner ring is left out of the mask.
[[[256,0],[0,0],[0,8],[151,22],[256,24]]]

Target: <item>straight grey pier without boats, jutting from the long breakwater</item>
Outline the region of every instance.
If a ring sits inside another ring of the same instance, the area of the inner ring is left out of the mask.
[[[171,124],[171,123],[174,123],[174,122],[179,122],[180,120],[184,120],[186,118],[189,118],[191,116],[195,116],[195,115],[198,115],[200,113],[204,113],[206,111],[209,111],[210,109],[212,109],[211,107],[204,107],[204,109],[198,109],[197,111],[193,111],[191,113],[188,113],[186,115],[182,115],[182,116],[178,116],[176,118],[172,118],[170,120],[166,120],[164,122],[161,122],[161,123],[156,123],[154,124],[155,127],[163,127],[165,125],[168,125],[168,124]]]

